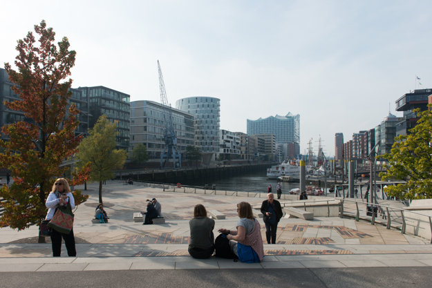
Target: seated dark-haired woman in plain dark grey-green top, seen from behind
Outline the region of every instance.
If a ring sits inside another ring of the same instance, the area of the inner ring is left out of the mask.
[[[189,221],[189,254],[198,259],[212,256],[214,251],[214,220],[207,218],[207,211],[202,204],[195,205],[194,218]]]

